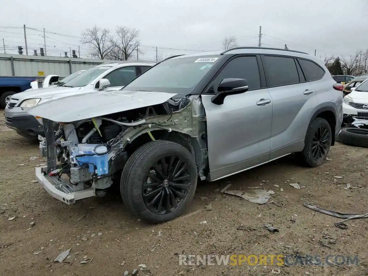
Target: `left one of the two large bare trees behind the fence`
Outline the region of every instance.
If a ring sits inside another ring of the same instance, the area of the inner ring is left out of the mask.
[[[87,28],[82,32],[81,37],[81,42],[90,47],[91,56],[98,59],[105,59],[113,49],[109,29],[102,29],[95,25],[92,29]]]

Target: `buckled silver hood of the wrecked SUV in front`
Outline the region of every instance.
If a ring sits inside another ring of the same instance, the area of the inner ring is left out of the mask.
[[[175,95],[177,94],[149,91],[94,91],[50,100],[27,111],[33,116],[70,123],[140,107],[159,105]]]

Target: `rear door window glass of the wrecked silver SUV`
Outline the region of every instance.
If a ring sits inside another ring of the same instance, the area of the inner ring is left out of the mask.
[[[295,60],[291,57],[262,56],[267,86],[296,84],[299,75]]]

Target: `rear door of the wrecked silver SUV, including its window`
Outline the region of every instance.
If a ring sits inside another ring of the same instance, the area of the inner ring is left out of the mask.
[[[318,99],[294,57],[262,55],[273,102],[270,160],[304,147],[305,125]],[[305,116],[308,114],[308,116]]]

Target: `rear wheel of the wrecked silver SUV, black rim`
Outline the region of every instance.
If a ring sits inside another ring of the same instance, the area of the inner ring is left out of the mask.
[[[321,132],[322,131],[322,132]],[[322,142],[317,140],[321,138]],[[325,162],[328,157],[328,152],[331,146],[332,132],[331,127],[323,118],[315,118],[308,127],[307,134],[304,139],[304,149],[299,153],[299,157],[304,165],[309,167],[318,167]],[[319,158],[316,158],[314,153],[320,154]]]

